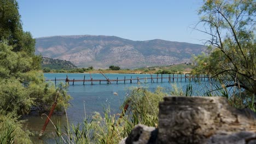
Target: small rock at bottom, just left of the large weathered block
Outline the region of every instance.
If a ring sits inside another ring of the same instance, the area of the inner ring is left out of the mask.
[[[125,143],[143,144],[143,143],[156,143],[156,137],[158,130],[154,127],[147,127],[142,124],[138,124],[131,131],[131,134],[127,137]]]

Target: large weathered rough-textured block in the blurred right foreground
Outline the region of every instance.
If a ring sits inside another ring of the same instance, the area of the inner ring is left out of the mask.
[[[142,129],[126,143],[148,143]],[[256,114],[231,107],[224,97],[165,97],[159,104],[156,143],[256,143],[255,131]]]

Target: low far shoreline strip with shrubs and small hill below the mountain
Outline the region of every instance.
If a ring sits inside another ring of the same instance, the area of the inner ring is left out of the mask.
[[[43,57],[42,67],[44,73],[118,73],[118,74],[185,74],[193,69],[191,63],[176,65],[143,67],[137,69],[121,69],[117,65],[110,65],[108,69],[77,68],[69,61]]]

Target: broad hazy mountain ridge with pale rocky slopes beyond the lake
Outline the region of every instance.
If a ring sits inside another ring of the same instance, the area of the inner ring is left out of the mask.
[[[78,67],[138,68],[189,62],[206,47],[161,39],[133,41],[104,35],[68,35],[36,39],[36,53],[71,61]]]

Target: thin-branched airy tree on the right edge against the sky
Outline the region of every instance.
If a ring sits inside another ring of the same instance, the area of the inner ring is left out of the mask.
[[[195,57],[193,71],[211,74],[226,88],[242,88],[252,102],[256,94],[255,12],[253,0],[205,0],[199,10],[204,29],[196,29],[210,35],[209,53]]]

